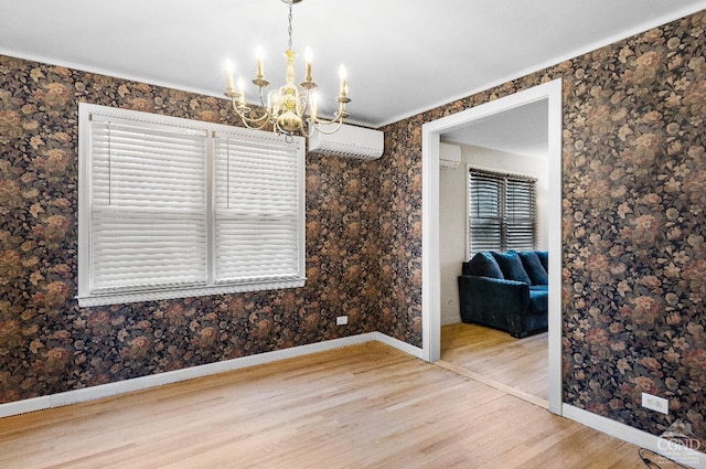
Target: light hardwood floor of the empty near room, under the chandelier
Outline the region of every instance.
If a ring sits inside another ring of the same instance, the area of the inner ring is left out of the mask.
[[[630,444],[377,342],[7,417],[0,467],[643,468]]]

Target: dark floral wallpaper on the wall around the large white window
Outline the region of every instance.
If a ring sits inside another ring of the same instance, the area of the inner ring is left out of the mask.
[[[223,99],[0,56],[0,403],[376,330],[377,172],[335,157],[307,157],[303,288],[78,308],[79,102],[235,124]]]

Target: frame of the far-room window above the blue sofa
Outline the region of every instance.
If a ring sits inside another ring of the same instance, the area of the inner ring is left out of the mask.
[[[467,164],[466,168],[466,256],[467,258],[471,258],[471,256],[473,256],[474,254],[482,252],[482,251],[488,251],[488,249],[478,249],[478,251],[473,251],[472,249],[472,216],[471,216],[471,209],[472,209],[472,201],[471,201],[471,174],[475,172],[475,173],[481,173],[481,174],[485,174],[490,178],[494,178],[496,180],[502,180],[502,188],[500,189],[500,193],[502,196],[502,201],[500,201],[498,203],[498,205],[500,206],[500,211],[501,211],[501,217],[500,217],[500,246],[498,249],[493,249],[493,251],[499,251],[499,252],[506,252],[509,251],[509,221],[507,221],[507,196],[506,196],[506,192],[507,192],[507,180],[512,179],[512,180],[520,180],[520,181],[525,181],[525,182],[531,182],[532,183],[532,188],[533,188],[533,220],[532,220],[532,247],[531,249],[534,251],[537,247],[537,179],[528,175],[528,174],[521,174],[521,173],[511,173],[511,172],[506,172],[506,171],[502,171],[502,170],[496,170],[496,169],[488,169],[488,168],[481,168],[481,167],[477,167],[473,164]],[[530,248],[530,247],[528,247]]]

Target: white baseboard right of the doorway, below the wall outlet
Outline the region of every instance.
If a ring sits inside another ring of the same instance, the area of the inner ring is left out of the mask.
[[[620,438],[623,441],[649,449],[684,466],[706,469],[706,454],[704,452],[676,445],[659,436],[611,420],[610,418],[601,417],[600,415],[591,414],[573,405],[563,404],[561,415],[587,427]]]

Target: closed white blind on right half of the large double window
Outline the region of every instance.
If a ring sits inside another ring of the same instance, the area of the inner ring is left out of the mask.
[[[299,278],[297,147],[215,138],[217,283]]]

